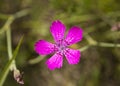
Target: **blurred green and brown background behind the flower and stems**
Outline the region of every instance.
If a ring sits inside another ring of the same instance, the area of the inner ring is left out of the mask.
[[[23,86],[120,86],[120,47],[90,46],[81,52],[81,61],[69,65],[64,60],[61,69],[50,71],[44,59],[35,53],[39,39],[53,42],[49,27],[61,20],[67,27],[77,25],[84,30],[81,42],[72,46],[87,46],[85,35],[97,42],[120,44],[120,0],[0,0],[0,31],[8,16],[18,13],[10,24],[12,49],[24,34],[16,58],[17,68],[24,73]],[[0,33],[0,73],[8,62],[5,32]],[[4,86],[20,86],[9,72]]]

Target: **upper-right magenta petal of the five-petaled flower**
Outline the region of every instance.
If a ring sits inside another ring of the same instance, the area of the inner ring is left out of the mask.
[[[69,30],[68,35],[66,36],[65,39],[65,43],[67,45],[77,43],[82,40],[82,37],[83,37],[82,29],[74,26]]]

